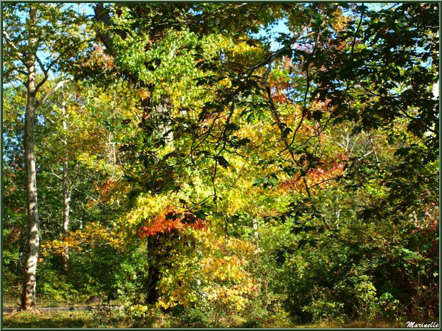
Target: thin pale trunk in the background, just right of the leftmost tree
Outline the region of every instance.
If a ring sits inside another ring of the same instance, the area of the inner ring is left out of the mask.
[[[63,103],[63,131],[66,134],[68,128],[66,125],[66,104]],[[65,151],[67,152],[68,140],[65,137],[63,139],[63,145],[65,146]],[[71,203],[71,187],[69,186],[68,180],[68,157],[67,154],[63,159],[63,234],[68,236],[69,233],[69,209]],[[64,246],[63,249],[63,268],[66,270],[69,263],[69,248]]]

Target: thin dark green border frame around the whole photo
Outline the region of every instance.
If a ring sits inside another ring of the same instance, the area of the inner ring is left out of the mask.
[[[223,1],[223,0],[209,0],[209,1],[205,1],[205,0],[190,0],[190,1],[186,1],[186,0],[175,0],[175,1],[161,1],[161,0],[150,0],[150,1],[145,1],[145,0],[140,0],[140,1],[136,1],[136,0],[110,0],[110,1],[102,1],[102,0],[98,0],[98,1],[92,1],[92,0],[85,0],[85,1],[78,1],[78,0],[63,0],[63,1],[56,1],[56,0],[47,0],[47,1],[39,1],[39,0],[35,0],[35,1],[29,1],[29,0],[25,0],[25,1],[14,1],[14,0],[4,0],[1,1],[0,0],[0,8],[1,8],[1,13],[0,13],[0,34],[1,36],[3,36],[3,4],[8,4],[8,3],[32,3],[32,2],[45,2],[45,3],[73,3],[73,4],[93,4],[93,3],[119,3],[119,2],[161,2],[161,3],[172,3],[172,2],[184,2],[184,3],[199,3],[199,2],[222,2],[222,3],[236,3],[236,2],[247,2],[247,3],[327,3],[327,2],[340,2],[340,3],[355,3],[355,2],[361,2],[361,3],[366,3],[366,4],[385,4],[385,3],[424,3],[424,4],[438,4],[439,6],[439,236],[441,233],[441,207],[442,207],[442,201],[441,201],[441,159],[442,159],[442,152],[441,152],[441,129],[442,129],[442,122],[441,122],[441,113],[442,113],[442,104],[441,104],[441,83],[442,83],[442,70],[441,70],[441,65],[442,65],[442,61],[441,61],[441,53],[442,53],[442,43],[441,43],[441,28],[442,28],[442,0],[428,0],[428,1],[415,1],[415,0],[403,0],[403,1],[394,1],[394,0],[386,0],[386,1],[379,1],[379,0],[362,0],[362,1],[349,1],[349,0],[310,0],[310,1],[302,1],[302,0],[286,0],[286,1],[280,1],[280,0],[267,0],[267,1],[250,1],[250,0],[245,0],[245,1],[232,1],[232,0],[227,0],[227,1]],[[1,38],[0,41],[0,65],[1,68],[3,68],[3,38]],[[0,253],[1,253],[1,263],[0,263],[0,310],[1,310],[1,317],[0,317],[0,330],[269,330],[266,328],[210,328],[210,327],[205,327],[205,328],[162,328],[162,329],[158,329],[158,328],[96,328],[96,329],[92,329],[92,328],[4,328],[3,327],[3,191],[4,191],[4,187],[3,187],[3,70],[0,71],[0,79],[1,79],[1,89],[0,89],[0,159],[1,159],[1,164],[0,164]],[[442,317],[442,313],[441,313],[441,241],[439,238],[439,329],[437,328],[409,328],[409,327],[399,327],[399,328],[376,328],[374,330],[413,330],[413,329],[417,329],[417,330],[441,330],[441,317]],[[272,328],[271,330],[298,330],[298,329],[302,329],[302,330],[342,330],[342,328],[304,328],[304,327],[297,327],[297,328]],[[345,328],[344,330],[371,330],[370,328],[353,328],[353,327],[348,327]]]

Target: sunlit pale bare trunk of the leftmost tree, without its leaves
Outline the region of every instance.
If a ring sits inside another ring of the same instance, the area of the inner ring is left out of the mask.
[[[36,23],[37,10],[29,11],[31,24]],[[34,46],[36,34],[30,33],[29,44]],[[32,54],[26,62],[28,69],[28,95],[24,121],[24,154],[26,169],[26,204],[28,212],[28,238],[26,241],[26,258],[24,261],[23,292],[21,294],[21,309],[36,308],[36,270],[38,261],[38,245],[40,241],[40,224],[37,209],[36,159],[34,147],[34,125],[38,106],[36,90],[36,57]]]

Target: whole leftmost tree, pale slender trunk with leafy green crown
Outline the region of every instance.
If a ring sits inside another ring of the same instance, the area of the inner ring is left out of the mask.
[[[22,83],[27,93],[24,159],[28,231],[21,298],[21,309],[27,310],[36,307],[40,239],[34,140],[36,111],[66,80],[59,78],[56,86],[42,97],[41,88],[53,70],[66,65],[86,41],[81,38],[83,21],[76,11],[63,4],[6,4],[3,9],[4,83]]]

